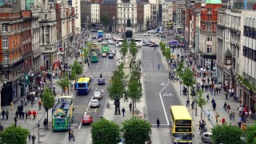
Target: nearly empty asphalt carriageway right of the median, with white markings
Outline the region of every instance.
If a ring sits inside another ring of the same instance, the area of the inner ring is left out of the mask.
[[[156,34],[149,37],[141,37],[154,42]],[[162,58],[158,50],[153,47],[142,47],[142,70],[146,88],[146,101],[148,117],[152,127],[156,127],[157,118],[160,120],[160,128],[169,128],[170,106],[181,105],[175,93],[174,86],[168,80],[168,70],[162,65]],[[158,70],[158,64],[160,69]]]

